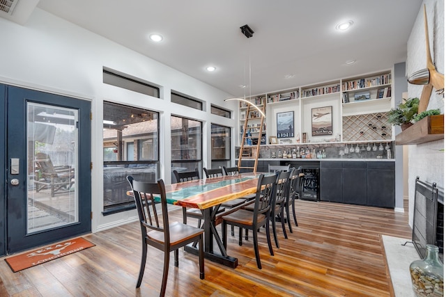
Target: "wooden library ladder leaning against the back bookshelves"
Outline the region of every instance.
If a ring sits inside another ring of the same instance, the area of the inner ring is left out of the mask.
[[[261,107],[263,114],[265,113],[265,107],[266,104],[263,104],[263,106]],[[265,117],[263,117],[254,106],[248,104],[245,117],[245,125],[243,125],[243,136],[240,144],[240,154],[238,155],[239,170],[252,169],[253,172],[257,171],[257,163],[259,162],[260,143],[263,134],[264,119]],[[252,122],[252,120],[260,120],[260,126],[253,127],[253,125],[249,125],[249,122]],[[252,145],[252,133],[254,129],[256,130],[255,134],[258,136],[256,145]],[[254,159],[254,166],[252,167],[242,166],[243,158]]]

